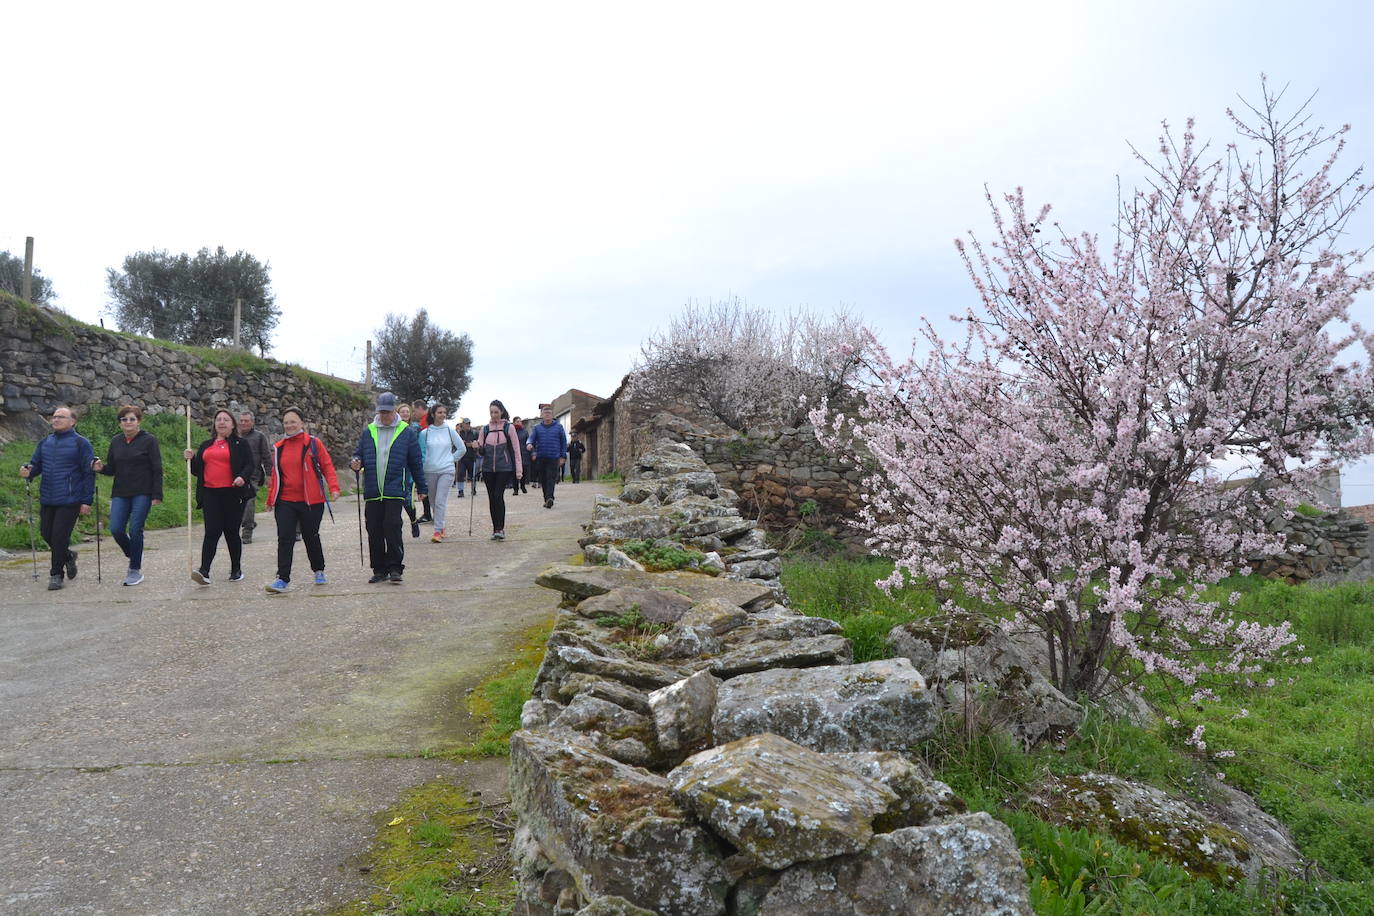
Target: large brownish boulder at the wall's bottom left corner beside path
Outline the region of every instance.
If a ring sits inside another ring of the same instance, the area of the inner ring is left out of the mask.
[[[661,776],[533,732],[511,736],[511,805],[583,900],[624,897],[661,916],[725,912],[719,842]]]

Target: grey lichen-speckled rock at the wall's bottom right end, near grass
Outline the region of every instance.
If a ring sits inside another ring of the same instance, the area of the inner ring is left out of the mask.
[[[1030,916],[1021,851],[991,814],[872,838],[853,856],[785,871],[760,916]]]

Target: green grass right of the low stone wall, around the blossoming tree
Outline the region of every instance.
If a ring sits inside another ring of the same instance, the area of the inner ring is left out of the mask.
[[[798,610],[830,617],[855,639],[856,661],[890,654],[890,626],[934,610],[919,588],[892,596],[872,581],[878,559],[796,559],[783,584]],[[1278,666],[1274,688],[1219,691],[1220,702],[1179,707],[1150,685],[1178,728],[1136,728],[1090,711],[1062,747],[1024,751],[996,735],[965,735],[952,722],[916,750],[973,810],[1011,827],[1030,876],[1035,912],[1230,915],[1374,913],[1374,585],[1293,586],[1237,577],[1215,597],[1242,592],[1238,618],[1290,621],[1311,665]],[[1241,715],[1246,710],[1246,715]],[[1208,754],[1184,743],[1206,725]],[[1234,751],[1234,757],[1217,751]],[[1112,838],[1048,824],[1017,803],[1044,773],[1103,772],[1200,794],[1204,773],[1250,792],[1312,861],[1305,879],[1270,876],[1260,889],[1217,887]]]

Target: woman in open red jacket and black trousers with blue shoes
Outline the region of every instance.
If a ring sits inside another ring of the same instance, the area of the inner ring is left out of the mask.
[[[324,442],[305,431],[301,408],[289,407],[282,412],[282,428],[286,435],[272,446],[272,483],[267,492],[268,508],[276,516],[276,580],[267,586],[273,595],[291,586],[298,526],[315,571],[315,584],[324,585],[320,522],[324,520],[326,500],[335,500],[339,494],[330,452]]]

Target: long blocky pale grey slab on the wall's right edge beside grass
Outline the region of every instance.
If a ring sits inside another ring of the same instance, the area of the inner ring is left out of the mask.
[[[717,742],[772,732],[815,751],[889,751],[936,729],[936,710],[907,659],[775,669],[720,687]]]

